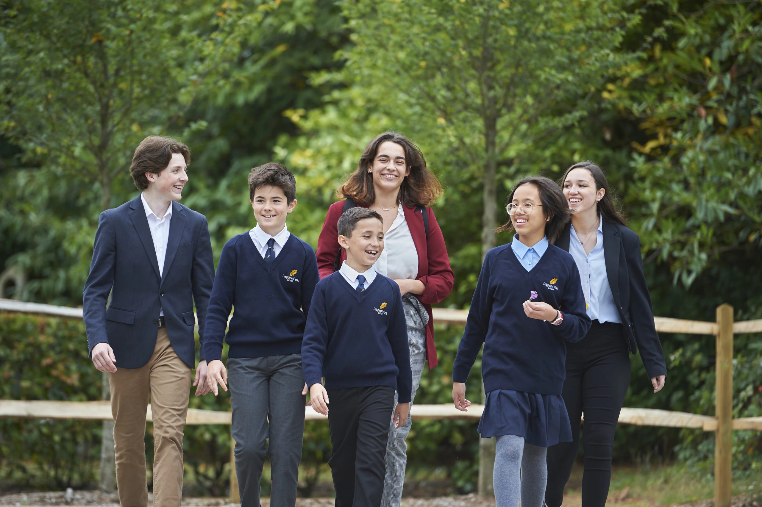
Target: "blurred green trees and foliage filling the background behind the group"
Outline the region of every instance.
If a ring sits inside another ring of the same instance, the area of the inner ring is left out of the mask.
[[[149,133],[191,145],[182,202],[207,215],[219,255],[255,223],[251,167],[276,160],[296,174],[289,228],[314,245],[341,177],[373,136],[395,129],[421,146],[445,186],[434,211],[456,287],[443,305],[467,308],[484,248],[510,240],[491,230],[507,219],[502,205],[520,177],[557,178],[592,159],[641,235],[655,314],[712,320],[729,302],[736,319],[760,318],[760,17],[759,2],[729,0],[114,0],[96,9],[0,1],[0,272],[20,269],[27,279],[2,297],[81,305],[98,213],[137,195],[126,164]],[[4,346],[38,343],[36,323],[0,326]],[[84,349],[84,334],[50,326]],[[442,365],[424,375],[421,403],[448,402],[461,332],[437,331]],[[736,340],[737,416],[762,412],[757,339]],[[667,388],[653,395],[633,358],[626,406],[711,413],[713,340],[662,340]],[[27,374],[8,373],[3,397],[59,399],[56,363],[27,362],[35,375],[52,375],[50,387],[24,391]],[[72,362],[78,392],[96,396],[91,366]],[[478,398],[475,374],[469,395]],[[193,403],[224,410],[228,402]],[[85,433],[66,438],[93,458]],[[325,462],[322,429],[307,435],[306,460]],[[679,459],[711,470],[703,432],[623,426],[617,435],[619,461]],[[9,442],[0,440],[0,470],[31,452]],[[739,473],[762,467],[755,434],[735,442]],[[186,445],[199,487],[219,492],[224,429],[194,428]],[[445,467],[469,491],[477,448],[474,425],[417,422],[411,473]],[[59,482],[30,477],[63,484],[96,475],[59,470]]]

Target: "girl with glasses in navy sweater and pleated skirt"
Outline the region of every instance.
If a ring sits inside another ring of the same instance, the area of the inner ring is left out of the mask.
[[[498,507],[542,507],[546,451],[571,441],[561,392],[566,344],[590,327],[574,258],[552,243],[568,222],[558,185],[528,177],[508,196],[510,244],[482,264],[453,365],[453,401],[464,412],[466,379],[484,344],[482,438],[497,437],[493,483]]]

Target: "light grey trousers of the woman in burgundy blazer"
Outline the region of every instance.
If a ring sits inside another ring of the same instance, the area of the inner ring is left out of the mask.
[[[402,307],[405,309],[405,320],[408,323],[408,345],[410,346],[410,368],[413,371],[412,400],[415,399],[415,391],[421,383],[421,374],[426,364],[426,324],[428,314],[421,301],[412,295],[402,296]],[[398,394],[394,394],[394,403],[397,404]],[[393,417],[393,414],[392,414]],[[390,417],[389,420],[392,418]],[[386,476],[383,481],[383,496],[381,507],[399,507],[402,502],[402,486],[405,485],[405,467],[408,464],[408,438],[412,417],[395,429],[394,424],[389,425],[389,442],[386,444]]]

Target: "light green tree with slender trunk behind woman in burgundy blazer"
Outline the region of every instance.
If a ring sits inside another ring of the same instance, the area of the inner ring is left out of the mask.
[[[498,177],[513,174],[535,139],[583,115],[584,97],[621,63],[628,18],[612,2],[344,5],[356,43],[347,73],[385,97],[395,121],[449,142],[480,177],[483,255],[495,246]]]

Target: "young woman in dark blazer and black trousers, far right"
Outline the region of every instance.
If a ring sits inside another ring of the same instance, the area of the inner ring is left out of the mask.
[[[593,325],[567,343],[563,394],[574,440],[548,449],[546,504],[559,507],[579,450],[584,412],[582,507],[603,507],[611,480],[614,430],[629,386],[629,353],[640,356],[654,392],[667,376],[643,274],[638,234],[616,209],[604,172],[592,162],[568,168],[562,190],[571,211],[555,245],[575,257]]]

